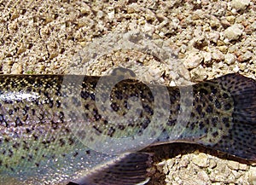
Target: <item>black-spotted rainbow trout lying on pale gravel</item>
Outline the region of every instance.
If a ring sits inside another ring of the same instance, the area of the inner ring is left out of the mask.
[[[0,76],[0,184],[145,184],[154,153],[143,147],[171,142],[256,160],[253,79],[182,88],[101,79]]]

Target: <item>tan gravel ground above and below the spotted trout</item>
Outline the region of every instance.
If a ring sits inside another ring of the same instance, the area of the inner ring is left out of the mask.
[[[2,73],[103,75],[125,66],[155,84],[230,72],[256,79],[255,0],[18,0],[0,1],[0,10]],[[224,153],[187,144],[156,151],[152,184],[256,184],[256,164]]]

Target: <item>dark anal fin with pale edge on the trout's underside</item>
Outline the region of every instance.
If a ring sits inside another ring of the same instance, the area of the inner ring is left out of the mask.
[[[77,181],[78,185],[135,185],[149,180],[151,153],[128,153],[111,163],[97,168]],[[71,185],[71,184],[70,184]]]

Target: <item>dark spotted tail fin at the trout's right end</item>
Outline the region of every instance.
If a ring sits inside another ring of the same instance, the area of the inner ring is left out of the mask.
[[[234,101],[232,128],[213,148],[243,159],[256,160],[256,81],[238,73],[218,78]]]

